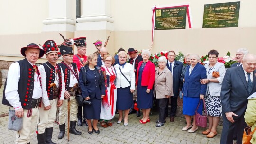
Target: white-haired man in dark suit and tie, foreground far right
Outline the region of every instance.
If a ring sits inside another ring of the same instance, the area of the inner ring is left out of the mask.
[[[237,144],[242,144],[243,130],[247,127],[244,114],[247,98],[256,91],[256,55],[246,54],[243,65],[228,69],[223,79],[220,98],[223,129],[220,144],[233,144],[237,127]]]

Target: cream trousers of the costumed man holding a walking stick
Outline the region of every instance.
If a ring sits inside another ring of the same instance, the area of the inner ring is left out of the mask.
[[[70,94],[73,94],[72,92],[69,92]],[[60,125],[64,124],[66,122],[67,117],[67,104],[68,100],[64,99],[63,104],[60,106]],[[70,97],[70,121],[77,121],[77,102],[75,99],[75,96]]]

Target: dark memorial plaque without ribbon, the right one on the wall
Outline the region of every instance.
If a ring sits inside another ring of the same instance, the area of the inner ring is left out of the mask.
[[[240,1],[204,5],[203,28],[238,27]]]

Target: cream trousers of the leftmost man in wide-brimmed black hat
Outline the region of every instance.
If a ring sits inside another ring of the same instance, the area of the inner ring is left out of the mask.
[[[11,107],[11,109],[14,109]],[[31,140],[31,136],[36,130],[38,119],[38,107],[32,109],[32,116],[27,117],[27,109],[24,109],[22,128],[15,132],[15,144],[27,144]]]

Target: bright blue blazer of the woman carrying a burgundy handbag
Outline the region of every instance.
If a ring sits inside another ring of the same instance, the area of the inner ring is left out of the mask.
[[[201,79],[207,79],[206,69],[200,63],[197,63],[189,75],[189,68],[185,75],[185,82],[183,84],[182,93],[184,97],[199,97],[200,94],[205,95],[207,84],[201,84]]]

